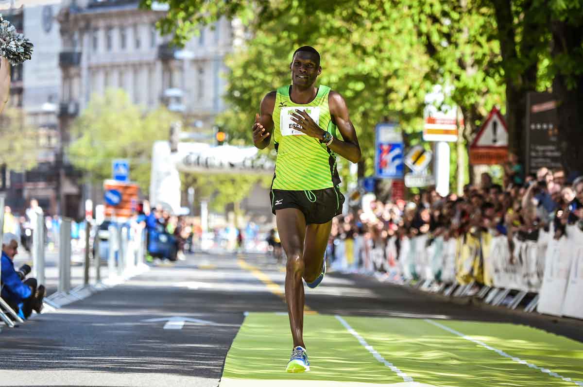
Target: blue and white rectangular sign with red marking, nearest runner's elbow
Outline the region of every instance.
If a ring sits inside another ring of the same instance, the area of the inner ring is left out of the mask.
[[[377,125],[374,165],[377,178],[403,178],[403,135],[397,124]]]

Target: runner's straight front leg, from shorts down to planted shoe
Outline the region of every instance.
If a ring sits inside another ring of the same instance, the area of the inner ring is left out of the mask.
[[[286,252],[286,302],[294,348],[304,344],[304,238],[305,217],[296,208],[276,210],[279,238]]]

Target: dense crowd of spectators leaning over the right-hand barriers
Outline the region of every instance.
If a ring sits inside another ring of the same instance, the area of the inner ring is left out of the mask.
[[[514,237],[538,240],[542,228],[553,230],[556,239],[566,233],[567,224],[578,224],[583,230],[583,176],[568,179],[563,170],[547,168],[522,176],[515,163],[505,170],[503,184],[494,184],[490,174],[483,173],[479,185],[466,185],[461,196],[441,197],[429,188],[409,202],[374,200],[370,210],[336,217],[331,242],[361,235],[365,250],[370,251],[393,236],[398,244],[404,237],[420,234],[448,240],[466,233],[479,237],[487,231],[506,235],[512,247]]]

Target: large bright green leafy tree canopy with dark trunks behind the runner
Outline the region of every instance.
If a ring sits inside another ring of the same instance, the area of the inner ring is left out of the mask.
[[[249,138],[259,101],[289,82],[291,52],[303,44],[321,51],[321,83],[346,98],[368,160],[378,122],[422,129],[424,97],[434,85],[451,87],[444,102],[460,108],[466,140],[497,105],[507,115],[511,149],[524,154],[525,97],[535,90],[557,95],[563,135],[581,127],[574,107],[583,94],[583,0],[166,3],[159,27],[177,44],[220,17],[245,26],[247,42],[227,61],[230,108],[222,119],[231,137]],[[573,141],[563,145],[565,164],[583,170],[583,151]]]

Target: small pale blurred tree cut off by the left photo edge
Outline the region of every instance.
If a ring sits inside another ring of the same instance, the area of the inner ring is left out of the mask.
[[[0,115],[0,164],[26,171],[38,163],[38,131],[27,124],[21,108],[6,107]]]

